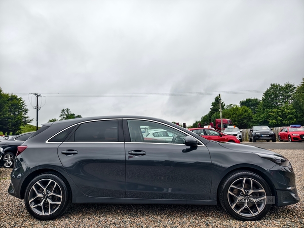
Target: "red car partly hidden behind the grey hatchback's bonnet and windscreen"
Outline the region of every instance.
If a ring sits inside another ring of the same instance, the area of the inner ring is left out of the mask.
[[[240,143],[240,140],[233,135],[224,135],[218,131],[212,130],[210,128],[189,128],[189,131],[192,131],[203,138],[208,140],[214,140],[219,142],[236,142]]]

